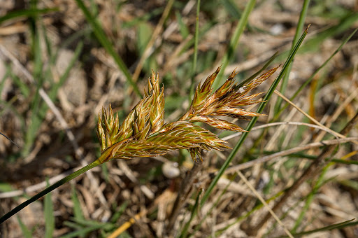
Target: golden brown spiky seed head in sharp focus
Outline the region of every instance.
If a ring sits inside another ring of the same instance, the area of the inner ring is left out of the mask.
[[[99,115],[97,135],[101,144],[101,163],[113,159],[130,159],[164,155],[181,148],[189,150],[193,160],[201,158],[201,150],[221,150],[229,148],[216,134],[195,125],[201,122],[220,130],[245,132],[241,127],[227,120],[213,116],[244,118],[245,116],[264,116],[264,114],[238,108],[258,104],[254,98],[259,94],[247,96],[248,92],[270,77],[278,67],[262,74],[252,82],[239,87],[234,83],[235,71],[226,82],[213,92],[213,82],[220,71],[208,76],[204,83],[196,87],[194,99],[189,110],[178,121],[164,123],[164,92],[159,87],[159,75],[152,71],[148,92],[119,125],[118,115],[114,116],[111,107],[102,109]]]

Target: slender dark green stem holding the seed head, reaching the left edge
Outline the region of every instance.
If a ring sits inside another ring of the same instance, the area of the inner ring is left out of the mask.
[[[1,216],[0,224],[3,223],[4,221],[8,220],[8,218],[10,218],[11,216],[17,214],[17,212],[19,212],[22,209],[24,209],[25,207],[27,207],[27,205],[31,204],[32,202],[35,202],[39,198],[41,198],[44,195],[50,193],[52,190],[55,190],[59,186],[62,186],[64,183],[67,183],[68,181],[71,181],[72,179],[75,179],[77,176],[80,176],[81,174],[83,174],[83,173],[87,172],[88,170],[96,167],[97,165],[101,165],[101,162],[99,162],[99,160],[96,160],[96,161],[90,163],[90,165],[86,165],[85,167],[83,167],[81,169],[78,169],[76,172],[73,172],[72,174],[64,177],[64,179],[61,179],[60,181],[57,181],[56,183],[52,184],[52,186],[50,186],[48,188],[45,188],[40,193],[34,195],[34,197],[31,197],[29,200],[26,200],[25,202],[22,202],[22,204],[20,204],[19,206],[15,207],[13,210],[9,211],[7,214]]]

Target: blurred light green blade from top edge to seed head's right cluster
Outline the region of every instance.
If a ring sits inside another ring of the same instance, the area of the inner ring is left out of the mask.
[[[255,0],[250,0],[245,6],[245,10],[243,10],[243,15],[241,15],[241,18],[238,21],[238,25],[236,25],[234,35],[231,37],[229,43],[229,48],[227,49],[227,52],[224,55],[224,59],[222,60],[222,67],[219,74],[217,75],[218,80],[215,80],[215,82],[213,83],[214,89],[217,89],[219,85],[222,85],[222,74],[224,73],[227,64],[229,64],[230,60],[234,56],[235,50],[238,46],[238,39],[240,38],[241,34],[243,33],[243,30],[245,29],[246,24],[248,23],[248,18],[252,9],[255,6],[255,2]]]

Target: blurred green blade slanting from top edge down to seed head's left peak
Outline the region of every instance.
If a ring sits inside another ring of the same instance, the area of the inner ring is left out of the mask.
[[[113,45],[110,43],[110,41],[106,37],[106,34],[104,33],[104,31],[101,28],[101,26],[99,25],[99,23],[96,21],[96,18],[90,13],[90,10],[88,10],[86,8],[85,3],[83,3],[82,0],[76,0],[76,2],[78,4],[78,7],[83,11],[83,14],[86,17],[87,22],[90,23],[90,25],[94,31],[94,34],[96,35],[97,39],[99,40],[99,42],[101,43],[103,48],[105,48],[107,50],[108,54],[110,54],[110,56],[113,57],[113,59],[115,60],[115,63],[120,68],[120,70],[122,70],[122,72],[124,73],[124,76],[126,76],[126,78],[127,78],[128,83],[130,83],[131,86],[134,88],[134,91],[136,92],[136,94],[138,94],[139,97],[142,97],[142,94],[139,91],[138,86],[136,85],[136,83],[134,83],[134,81],[131,78],[131,73],[129,72],[129,69],[127,69],[127,66],[124,64],[123,60],[120,58],[120,55],[118,55],[117,52],[115,52]]]

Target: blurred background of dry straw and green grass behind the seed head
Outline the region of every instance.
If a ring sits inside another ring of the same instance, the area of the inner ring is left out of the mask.
[[[45,188],[47,179],[52,183],[98,158],[95,128],[102,106],[111,104],[123,120],[141,99],[152,69],[164,85],[165,118],[173,121],[185,113],[193,88],[217,66],[223,66],[221,83],[234,69],[238,82],[252,76],[276,51],[269,68],[278,66],[308,24],[309,34],[278,89],[288,98],[297,96],[292,99],[297,108],[336,132],[355,116],[357,1],[220,0],[201,1],[199,8],[197,3],[0,0],[0,132],[20,146],[0,137],[0,214]],[[274,79],[259,91],[268,90]],[[265,113],[257,125],[313,123],[275,94]],[[304,125],[252,131],[231,166],[335,139],[322,132]],[[357,136],[356,126],[349,137]],[[229,146],[239,138],[228,139]],[[241,172],[257,193],[273,200],[320,151],[312,147],[276,156]],[[358,217],[357,151],[357,144],[340,144],[320,176],[290,196],[280,214],[290,232],[358,236],[357,220],[350,221]],[[199,215],[192,216],[198,194],[229,153],[204,155],[172,230],[166,228],[173,202],[193,166],[187,151],[108,162],[31,204],[1,225],[1,235],[248,237],[247,228],[266,209],[234,172],[222,176]],[[271,220],[259,234],[285,235]]]

